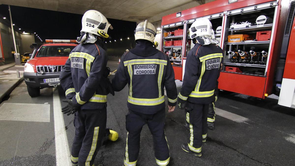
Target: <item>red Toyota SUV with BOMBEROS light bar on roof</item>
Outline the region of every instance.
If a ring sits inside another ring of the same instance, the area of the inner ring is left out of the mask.
[[[24,81],[31,97],[39,96],[40,89],[60,85],[60,71],[76,46],[76,40],[46,40],[35,49],[24,65]]]

